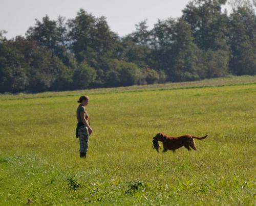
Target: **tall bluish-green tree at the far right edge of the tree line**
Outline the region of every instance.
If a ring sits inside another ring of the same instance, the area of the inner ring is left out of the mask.
[[[229,17],[229,65],[237,75],[256,74],[256,15],[252,8],[252,5],[234,8]]]

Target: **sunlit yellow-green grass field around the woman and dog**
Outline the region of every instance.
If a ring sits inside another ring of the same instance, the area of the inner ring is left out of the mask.
[[[90,95],[87,159],[76,100]],[[0,95],[1,205],[255,205],[256,77]],[[158,132],[198,151],[152,149]],[[29,200],[28,200],[29,199]]]

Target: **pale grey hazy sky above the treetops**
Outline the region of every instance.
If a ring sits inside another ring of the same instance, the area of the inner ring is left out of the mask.
[[[189,0],[0,0],[0,30],[8,39],[25,35],[35,19],[46,14],[56,20],[74,18],[80,8],[95,17],[105,16],[113,32],[120,36],[135,30],[135,24],[147,19],[153,28],[157,19],[177,18]]]

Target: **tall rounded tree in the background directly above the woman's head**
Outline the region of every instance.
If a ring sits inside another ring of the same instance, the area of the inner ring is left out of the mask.
[[[83,9],[68,21],[69,48],[78,63],[87,61],[96,69],[104,69],[106,59],[112,57],[117,35],[113,33],[105,17],[96,18]]]

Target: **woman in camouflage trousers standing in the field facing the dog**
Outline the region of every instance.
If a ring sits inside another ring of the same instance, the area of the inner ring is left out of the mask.
[[[89,115],[86,110],[86,106],[89,104],[89,96],[82,95],[77,102],[80,103],[80,105],[76,110],[76,118],[78,122],[76,127],[76,137],[79,137],[80,157],[86,158],[89,135],[93,132],[92,127],[90,126]]]

